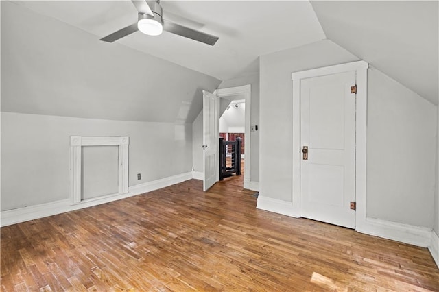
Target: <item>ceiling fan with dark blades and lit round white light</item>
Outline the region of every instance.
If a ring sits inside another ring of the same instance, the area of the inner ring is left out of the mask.
[[[137,32],[140,30],[143,34],[150,36],[158,36],[165,30],[166,32],[171,32],[172,34],[178,34],[179,36],[184,36],[185,38],[191,38],[192,40],[197,40],[198,42],[204,42],[207,45],[215,45],[215,42],[219,39],[217,36],[211,34],[206,34],[189,27],[178,25],[171,21],[167,21],[162,18],[163,10],[160,5],[160,1],[146,1],[146,0],[131,0],[136,7],[138,14],[138,21],[123,29],[119,29],[117,32],[113,32],[100,40],[104,42],[114,42]]]

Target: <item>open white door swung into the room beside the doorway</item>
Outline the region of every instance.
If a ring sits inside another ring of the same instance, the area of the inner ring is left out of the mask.
[[[219,98],[203,90],[203,191],[219,178]]]

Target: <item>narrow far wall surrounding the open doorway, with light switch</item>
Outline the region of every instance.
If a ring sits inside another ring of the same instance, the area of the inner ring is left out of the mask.
[[[218,88],[229,88],[250,84],[252,86],[251,96],[251,125],[259,125],[259,74],[252,74],[245,77],[225,80]],[[246,108],[248,110],[248,108]],[[203,151],[202,151],[202,111],[193,121],[193,168],[195,171],[203,171]],[[246,156],[247,159],[247,156]],[[251,133],[250,143],[250,181],[259,182],[259,131]]]

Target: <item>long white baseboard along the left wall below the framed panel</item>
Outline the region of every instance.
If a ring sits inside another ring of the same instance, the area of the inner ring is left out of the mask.
[[[171,186],[172,184],[178,184],[179,182],[184,182],[185,180],[190,180],[191,178],[191,172],[182,173],[179,175],[170,176],[168,178],[162,178],[160,180],[153,180],[152,182],[145,182],[144,184],[130,186],[128,188],[128,193],[95,197],[93,199],[84,200],[79,204],[71,204],[69,199],[63,199],[61,201],[50,202],[46,204],[38,204],[35,206],[2,211],[0,214],[0,226],[8,226],[15,223],[105,204],[108,202],[117,201],[118,199],[125,199],[126,197],[140,195],[143,193],[154,191],[158,188]]]

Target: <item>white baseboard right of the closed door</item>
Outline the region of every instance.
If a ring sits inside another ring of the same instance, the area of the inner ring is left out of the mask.
[[[420,247],[429,247],[431,243],[431,228],[412,226],[375,218],[366,218],[358,223],[357,232],[409,243]]]

